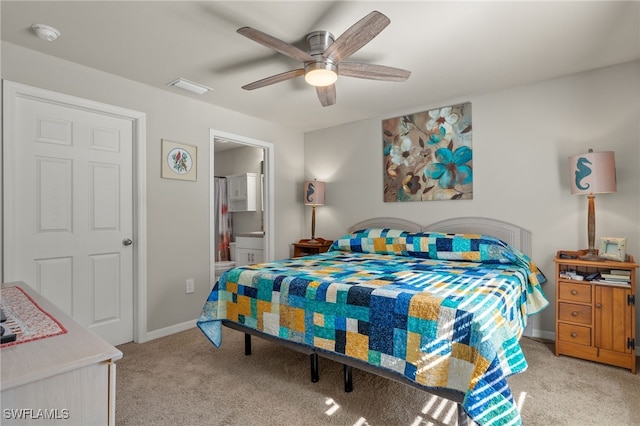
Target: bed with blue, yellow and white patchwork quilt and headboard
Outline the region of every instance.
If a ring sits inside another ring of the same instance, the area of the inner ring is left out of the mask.
[[[428,226],[359,222],[313,256],[232,269],[198,327],[220,346],[221,327],[425,390],[458,404],[458,424],[520,424],[506,378],[527,368],[527,317],[548,305],[531,233],[489,218]]]

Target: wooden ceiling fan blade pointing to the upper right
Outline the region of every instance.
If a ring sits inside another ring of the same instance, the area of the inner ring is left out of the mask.
[[[324,57],[334,62],[340,62],[373,40],[390,22],[389,18],[374,10],[349,27],[336,41],[331,43],[324,51]]]

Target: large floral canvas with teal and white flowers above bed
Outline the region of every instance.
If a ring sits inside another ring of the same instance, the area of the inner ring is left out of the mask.
[[[473,198],[471,103],[382,121],[384,201]]]

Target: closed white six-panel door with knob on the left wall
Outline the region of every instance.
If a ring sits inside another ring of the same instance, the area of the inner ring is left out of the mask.
[[[22,96],[5,112],[4,281],[133,340],[132,121]]]

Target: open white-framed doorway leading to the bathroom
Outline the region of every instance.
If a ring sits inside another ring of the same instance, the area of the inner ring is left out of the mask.
[[[219,185],[221,181],[229,180],[226,176],[237,176],[246,173],[255,174],[256,182],[256,208],[255,211],[238,211],[228,213],[232,218],[231,240],[235,242],[238,235],[257,236],[264,233],[262,237],[264,250],[263,259],[269,261],[273,259],[274,253],[274,148],[273,144],[257,139],[252,139],[240,135],[234,135],[215,129],[209,131],[210,143],[210,165],[211,176],[209,178],[209,244],[210,244],[210,287],[213,288],[217,274],[216,271],[223,271],[226,265],[220,261],[219,251],[221,248],[220,225],[223,213],[220,211],[220,201],[218,199]],[[224,183],[223,183],[224,185]],[[224,198],[224,196],[223,196]],[[252,240],[254,240],[252,238]],[[225,244],[222,244],[224,246]],[[231,250],[235,254],[235,244]],[[224,256],[222,256],[224,258]],[[218,259],[218,262],[216,261]],[[224,259],[225,261],[228,259]],[[237,259],[236,259],[237,261]],[[246,262],[245,262],[246,263]],[[216,268],[216,264],[219,266]]]

